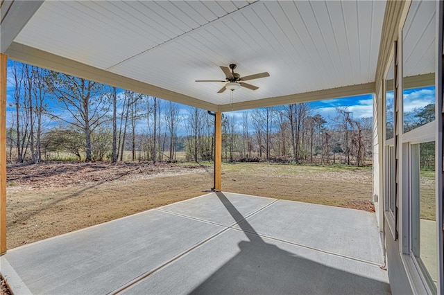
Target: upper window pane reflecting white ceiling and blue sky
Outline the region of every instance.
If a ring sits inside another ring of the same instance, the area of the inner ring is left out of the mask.
[[[412,1],[402,29],[404,132],[435,119],[435,12],[435,1]]]

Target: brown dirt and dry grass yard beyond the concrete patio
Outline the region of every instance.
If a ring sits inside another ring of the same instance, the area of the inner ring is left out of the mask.
[[[8,249],[203,195],[212,166],[40,163],[8,166]],[[223,190],[374,211],[371,169],[223,165]]]

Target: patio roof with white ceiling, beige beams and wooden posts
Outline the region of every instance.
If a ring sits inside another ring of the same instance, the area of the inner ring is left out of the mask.
[[[385,10],[385,1],[4,1],[0,253],[8,59],[211,111],[223,190],[223,112],[375,93]],[[228,81],[239,89],[220,93]]]

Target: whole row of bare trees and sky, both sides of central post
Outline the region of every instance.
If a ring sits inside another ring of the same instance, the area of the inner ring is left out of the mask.
[[[214,116],[152,96],[14,62],[8,161],[212,161]],[[364,165],[371,118],[324,118],[300,103],[223,114],[226,161]],[[178,155],[180,153],[180,156]],[[64,157],[65,158],[65,157]]]

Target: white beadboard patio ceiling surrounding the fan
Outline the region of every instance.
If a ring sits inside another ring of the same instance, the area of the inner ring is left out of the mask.
[[[236,72],[268,71],[233,102],[375,80],[385,1],[45,1],[14,42],[212,102]]]

